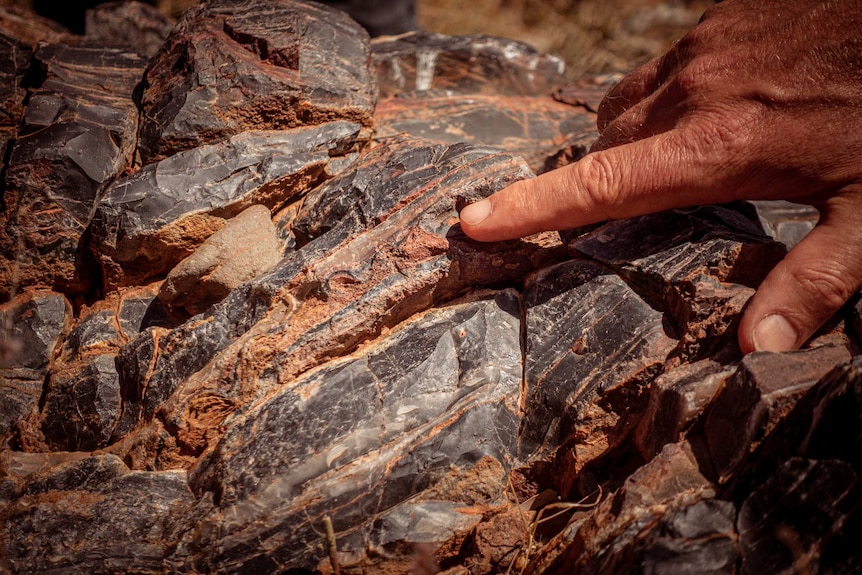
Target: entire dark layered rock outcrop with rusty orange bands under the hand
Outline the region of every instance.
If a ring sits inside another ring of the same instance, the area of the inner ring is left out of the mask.
[[[4,11],[0,570],[862,570],[862,305],[736,346],[810,209],[481,244],[464,205],[595,137],[553,56]]]

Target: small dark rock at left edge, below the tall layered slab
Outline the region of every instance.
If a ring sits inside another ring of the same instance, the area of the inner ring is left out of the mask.
[[[62,294],[29,291],[0,305],[0,437],[36,409],[72,306]]]

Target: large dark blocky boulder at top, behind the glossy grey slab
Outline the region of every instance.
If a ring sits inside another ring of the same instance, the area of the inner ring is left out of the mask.
[[[368,33],[291,0],[212,0],[188,10],[143,83],[144,163],[248,130],[373,124]],[[367,138],[368,133],[365,134]]]

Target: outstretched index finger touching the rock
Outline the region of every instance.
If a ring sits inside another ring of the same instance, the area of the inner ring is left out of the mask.
[[[703,150],[701,150],[703,152]],[[575,164],[521,180],[461,210],[464,232],[508,240],[736,198],[710,153],[680,130],[588,154]]]

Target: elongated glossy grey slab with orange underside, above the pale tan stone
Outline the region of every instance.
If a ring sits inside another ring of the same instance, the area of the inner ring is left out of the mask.
[[[299,199],[357,146],[359,124],[245,132],[118,180],[96,209],[91,248],[108,289],[167,274],[226,219]]]

